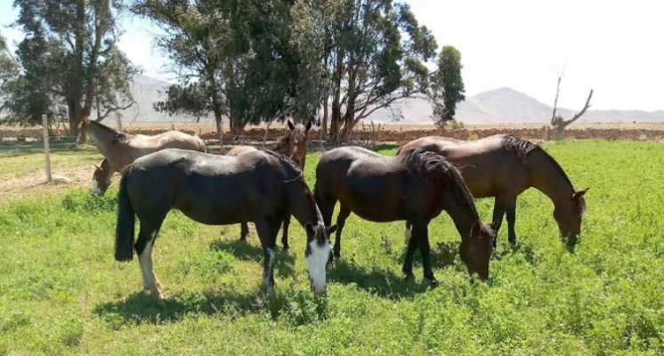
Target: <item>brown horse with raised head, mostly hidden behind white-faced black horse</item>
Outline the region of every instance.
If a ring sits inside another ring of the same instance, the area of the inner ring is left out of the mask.
[[[306,154],[307,154],[307,134],[312,128],[312,122],[308,121],[306,126],[302,124],[293,125],[293,122],[287,121],[287,132],[284,137],[277,142],[277,144],[271,148],[275,152],[279,152],[282,155],[285,155],[287,158],[293,159],[297,165],[304,169],[306,164]],[[247,152],[253,152],[257,150],[254,146],[235,146],[228,153],[227,156],[239,156]],[[284,230],[281,235],[281,244],[285,249],[288,249],[288,224],[290,223],[290,215],[284,220]],[[247,223],[240,224],[240,233],[239,239],[247,239],[249,234],[249,227]]]

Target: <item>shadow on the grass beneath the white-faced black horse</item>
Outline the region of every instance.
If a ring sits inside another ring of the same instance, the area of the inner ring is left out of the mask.
[[[233,291],[219,294],[184,292],[162,300],[146,292],[138,292],[120,301],[98,304],[93,312],[115,329],[180,321],[197,314],[223,314],[238,318],[255,313],[269,314],[273,320],[282,318],[297,327],[326,319],[327,307],[325,296],[313,296],[304,291],[290,291],[288,294],[278,291],[269,298],[260,288],[247,294]]]

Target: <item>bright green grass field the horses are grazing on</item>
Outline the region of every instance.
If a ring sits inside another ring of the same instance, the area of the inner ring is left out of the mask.
[[[519,245],[500,231],[487,283],[469,280],[447,214],[430,225],[434,289],[419,264],[415,281],[402,279],[403,223],[352,215],[327,296],[308,290],[304,229],[293,225],[266,299],[255,233],[239,243],[238,226],[174,211],[154,252],[169,296],[158,302],[141,291],[135,259],[113,259],[117,182],[103,198],[85,187],[12,201],[0,209],[0,354],[664,353],[664,145],[546,149],[577,188],[590,187],[574,254],[552,203],[529,190],[518,202]],[[0,169],[18,157],[0,158]],[[311,187],[319,157],[308,158]],[[477,206],[488,219],[492,201]]]

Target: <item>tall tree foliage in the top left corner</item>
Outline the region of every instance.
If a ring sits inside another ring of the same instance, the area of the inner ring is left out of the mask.
[[[15,1],[15,26],[25,38],[19,44],[18,72],[2,86],[6,120],[39,125],[47,112],[69,117],[77,133],[82,117],[97,109],[103,118],[126,108],[129,88],[138,72],[117,48],[116,20],[121,0]]]

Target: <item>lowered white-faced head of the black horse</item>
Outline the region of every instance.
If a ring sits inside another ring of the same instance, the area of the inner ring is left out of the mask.
[[[307,246],[304,257],[309,266],[309,279],[312,282],[314,294],[325,293],[327,288],[326,269],[332,252],[329,235],[336,231],[336,225],[325,228],[322,223],[315,227],[312,223],[306,223],[304,230],[307,233]]]

